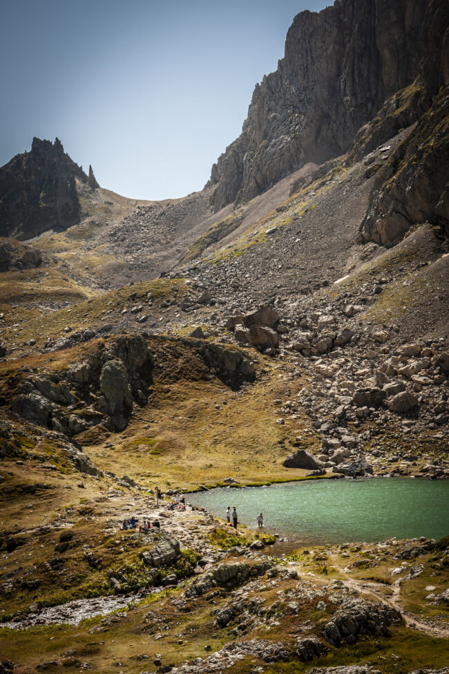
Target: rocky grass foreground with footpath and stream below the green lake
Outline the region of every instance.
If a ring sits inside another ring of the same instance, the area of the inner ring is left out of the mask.
[[[306,672],[358,663],[332,669],[343,674],[447,662],[446,539],[277,556],[274,536],[234,532],[188,504],[157,506],[107,476],[64,486],[76,490],[72,501],[83,491],[87,498],[49,518],[40,511],[46,522],[2,541],[0,641],[15,662],[3,662],[5,672]],[[35,510],[38,502],[31,517]],[[160,530],[120,530],[131,514]],[[30,558],[33,550],[41,552]],[[8,615],[7,606],[19,608]]]

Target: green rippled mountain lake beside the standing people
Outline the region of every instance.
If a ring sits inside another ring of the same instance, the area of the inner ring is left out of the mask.
[[[310,543],[381,541],[449,534],[449,481],[382,478],[311,480],[270,487],[213,489],[186,495],[187,502],[225,519],[235,505],[238,519],[267,531],[295,534]]]

